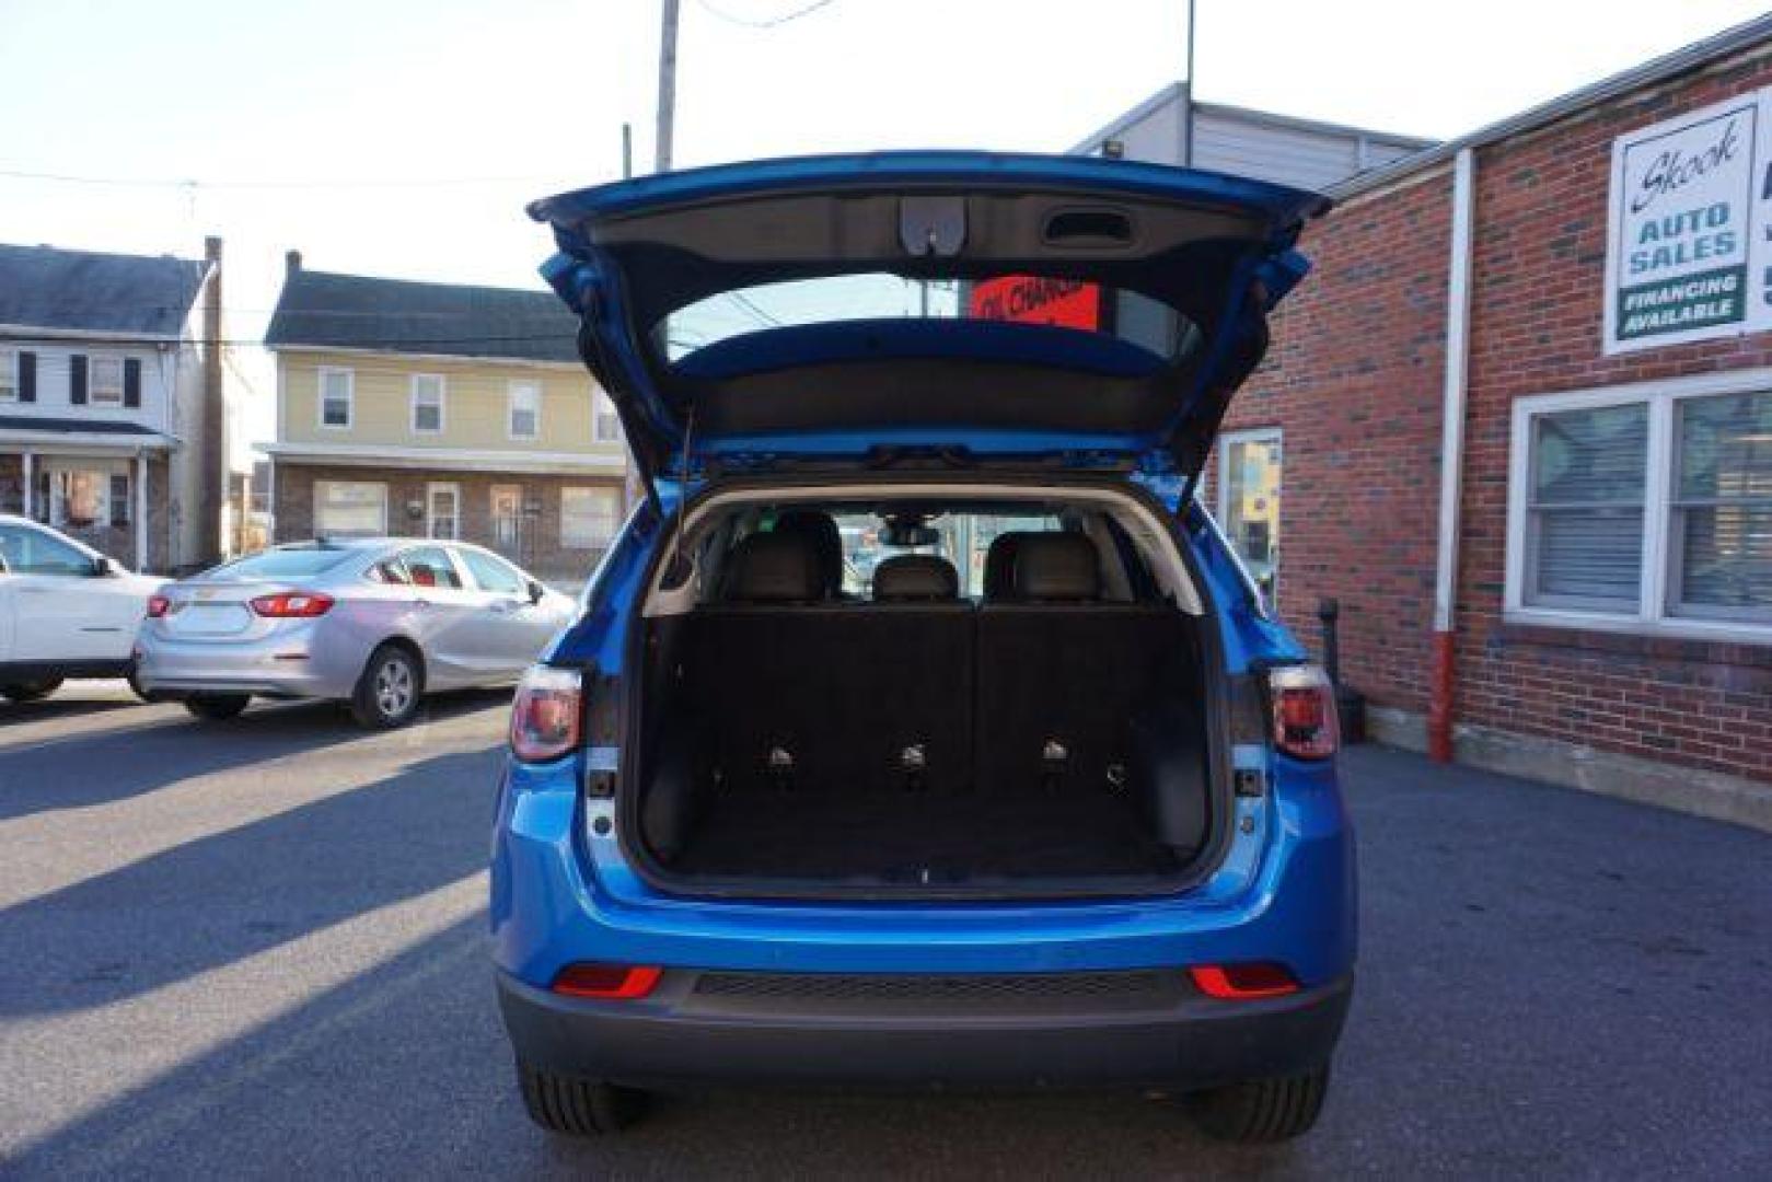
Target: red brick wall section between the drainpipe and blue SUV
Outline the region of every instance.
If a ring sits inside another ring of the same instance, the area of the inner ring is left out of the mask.
[[[1341,675],[1411,711],[1426,709],[1449,193],[1439,170],[1306,232],[1311,276],[1224,424],[1283,431],[1281,617],[1315,650],[1317,603],[1336,597]]]

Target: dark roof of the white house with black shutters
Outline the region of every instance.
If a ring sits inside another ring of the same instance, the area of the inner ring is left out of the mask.
[[[0,326],[177,338],[209,264],[0,245]]]

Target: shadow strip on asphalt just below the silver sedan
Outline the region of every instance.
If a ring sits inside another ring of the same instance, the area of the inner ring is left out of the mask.
[[[443,721],[470,714],[507,700],[509,693],[438,695],[427,700],[425,716]],[[0,750],[0,820],[124,801],[179,780],[312,753],[367,734],[333,702],[296,702],[255,707],[225,723],[198,721],[179,711],[128,730],[39,739],[23,750]]]

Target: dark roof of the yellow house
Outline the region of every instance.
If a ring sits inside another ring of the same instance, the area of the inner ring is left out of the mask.
[[[553,292],[292,269],[264,344],[576,362],[578,317]]]

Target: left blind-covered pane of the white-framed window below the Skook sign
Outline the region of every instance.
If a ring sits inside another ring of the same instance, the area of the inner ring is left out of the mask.
[[[1648,438],[1643,402],[1533,418],[1526,603],[1637,606]]]

